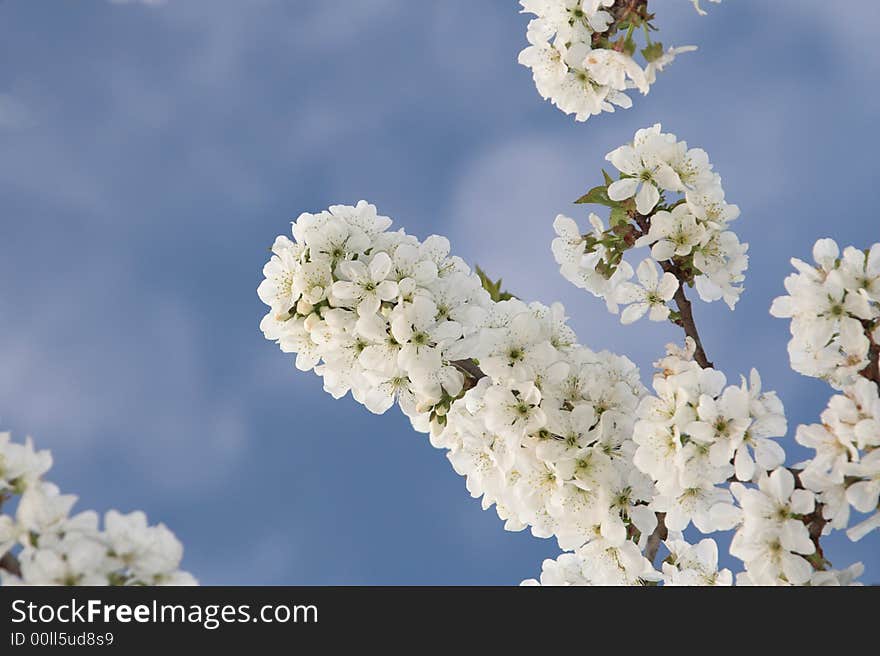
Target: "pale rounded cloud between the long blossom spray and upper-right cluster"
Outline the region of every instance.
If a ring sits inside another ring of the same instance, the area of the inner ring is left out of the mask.
[[[656,324],[621,328],[603,301],[559,275],[550,252],[558,213],[587,225],[589,208],[573,201],[601,175],[604,152],[583,140],[537,134],[487,147],[461,171],[447,211],[448,236],[457,255],[502,278],[517,296],[546,304],[561,301],[582,343],[625,353],[647,379],[663,344],[679,339],[677,329]]]

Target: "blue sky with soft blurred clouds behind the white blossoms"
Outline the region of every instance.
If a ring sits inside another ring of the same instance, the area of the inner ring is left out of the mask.
[[[656,121],[710,153],[751,244],[736,312],[696,306],[710,357],[816,421],[829,390],[788,368],[767,310],[817,238],[880,240],[880,17],[652,5],[664,42],[700,51],[578,124],[517,65],[512,1],[0,2],[0,427],[53,449],[78,507],[167,523],[204,583],[518,583],[555,544],[504,532],[399,413],[297,372],[258,329],[260,271],[300,212],[365,198],[561,300],[648,381],[677,329],[620,327],[549,245],[605,153]],[[877,539],[829,554],[877,581]]]

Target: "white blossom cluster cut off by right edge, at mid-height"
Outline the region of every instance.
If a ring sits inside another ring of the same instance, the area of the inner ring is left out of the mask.
[[[785,279],[788,295],[770,313],[791,319],[791,367],[826,380],[835,389],[851,385],[880,344],[880,243],[843,253],[832,239],[813,247],[815,265],[793,258],[797,273]]]

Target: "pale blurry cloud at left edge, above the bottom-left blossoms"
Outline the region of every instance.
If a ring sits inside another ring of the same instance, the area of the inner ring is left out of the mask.
[[[101,453],[157,493],[223,484],[248,439],[247,381],[216,392],[204,322],[173,297],[143,292],[134,311],[114,311],[135,288],[121,261],[49,285],[36,300],[0,299],[4,429],[32,434],[68,474]]]

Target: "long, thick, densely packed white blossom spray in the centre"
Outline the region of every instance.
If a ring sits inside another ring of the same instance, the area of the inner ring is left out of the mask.
[[[493,299],[445,239],[389,226],[363,201],[301,215],[258,288],[265,336],[336,397],[376,413],[396,401],[508,529],[563,549],[646,538],[635,365],[578,345],[559,304]]]

